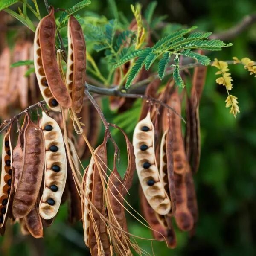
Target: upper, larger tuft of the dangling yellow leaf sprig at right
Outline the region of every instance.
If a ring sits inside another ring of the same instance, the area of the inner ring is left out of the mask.
[[[212,66],[217,67],[219,69],[218,72],[215,73],[215,75],[222,75],[221,77],[216,79],[217,84],[222,84],[226,86],[227,90],[231,90],[233,88],[231,78],[231,74],[228,73],[229,69],[227,66],[227,62],[225,61],[218,61],[218,59],[215,58],[214,62],[212,63]]]

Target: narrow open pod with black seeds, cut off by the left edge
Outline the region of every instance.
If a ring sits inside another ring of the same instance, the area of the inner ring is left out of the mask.
[[[2,145],[2,172],[0,180],[0,229],[6,223],[9,203],[13,191],[13,175],[12,175],[12,145],[11,131],[12,125],[3,137]]]

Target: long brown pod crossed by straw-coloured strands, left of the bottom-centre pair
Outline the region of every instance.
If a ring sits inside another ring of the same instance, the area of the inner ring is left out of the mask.
[[[98,164],[94,163],[93,166],[93,182],[92,182],[92,195],[91,202],[94,205],[91,209],[90,228],[88,244],[92,256],[98,255],[98,250],[103,250],[104,255],[111,255],[110,242],[108,240],[108,232],[105,220],[102,220],[101,215],[106,217],[104,206],[104,189],[105,183],[102,178],[106,177],[107,172],[107,137],[101,145],[94,151],[95,160]],[[100,169],[98,169],[98,166]],[[87,173],[90,177],[89,169]],[[100,241],[100,244],[99,244]]]

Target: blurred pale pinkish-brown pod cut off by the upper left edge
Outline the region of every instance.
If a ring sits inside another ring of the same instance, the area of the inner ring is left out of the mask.
[[[3,15],[3,13],[1,13]],[[6,115],[7,105],[9,104],[6,95],[9,92],[11,52],[8,47],[4,48],[0,55],[0,113]]]

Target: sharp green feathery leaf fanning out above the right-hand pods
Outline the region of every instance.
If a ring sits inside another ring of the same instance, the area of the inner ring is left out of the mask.
[[[223,41],[218,39],[208,40],[209,35],[211,35],[211,33],[209,32],[191,33],[196,28],[196,26],[193,26],[188,29],[180,29],[178,31],[172,32],[166,37],[161,38],[159,41],[157,41],[153,47],[135,49],[134,51],[130,51],[125,56],[120,58],[120,60],[113,66],[113,68],[117,68],[125,64],[126,62],[137,58],[134,66],[131,69],[131,73],[128,76],[129,80],[127,80],[125,87],[128,88],[132,84],[132,81],[137,76],[139,71],[143,68],[143,66],[145,66],[145,70],[149,70],[152,64],[154,64],[154,62],[160,57],[162,58],[160,58],[160,62],[158,65],[158,74],[160,79],[163,79],[166,73],[166,67],[172,55],[176,56],[174,64],[175,82],[178,86],[183,87],[184,83],[179,74],[179,58],[177,58],[179,55],[192,58],[203,65],[209,65],[210,59],[207,56],[199,54],[197,52],[193,52],[193,50],[206,49],[210,51],[218,51],[221,50],[222,47],[232,45],[225,44]],[[145,59],[142,59],[141,56],[144,55],[146,55]],[[139,70],[136,70],[136,68],[139,68]]]

